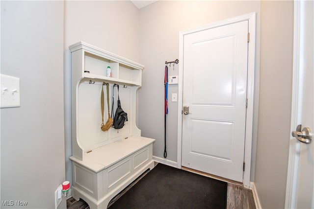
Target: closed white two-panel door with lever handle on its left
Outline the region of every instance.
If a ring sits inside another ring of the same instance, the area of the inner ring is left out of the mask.
[[[182,166],[242,182],[248,21],[184,36]]]

